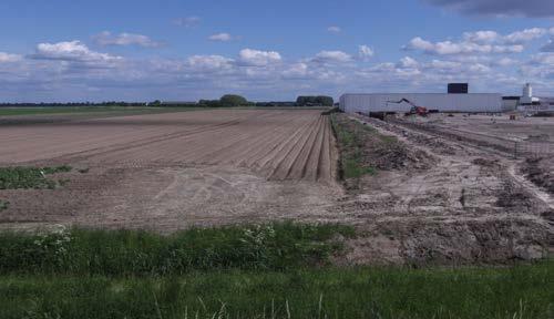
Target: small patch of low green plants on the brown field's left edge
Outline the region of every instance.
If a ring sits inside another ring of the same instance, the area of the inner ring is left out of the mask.
[[[0,189],[53,189],[59,184],[47,175],[71,172],[71,166],[57,167],[0,167]]]

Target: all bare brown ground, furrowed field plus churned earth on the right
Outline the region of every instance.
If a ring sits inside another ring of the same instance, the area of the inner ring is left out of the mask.
[[[495,137],[480,144],[464,133],[442,134],[439,126],[427,130],[353,120],[377,130],[363,140],[363,161],[377,174],[360,178],[356,192],[336,182],[335,136],[320,110],[0,124],[0,165],[74,167],[53,176],[69,179],[57,189],[0,191],[10,202],[0,228],[64,224],[171,233],[283,219],[345,223],[359,233],[337,260],[348,265],[504,264],[552,250],[552,197],[529,178],[526,158],[491,146]],[[544,158],[529,163],[551,169]]]

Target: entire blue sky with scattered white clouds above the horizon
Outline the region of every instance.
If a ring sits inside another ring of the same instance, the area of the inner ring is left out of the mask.
[[[0,102],[554,95],[552,0],[2,0]]]

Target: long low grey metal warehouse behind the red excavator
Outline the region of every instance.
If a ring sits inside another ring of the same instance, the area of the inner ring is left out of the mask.
[[[502,112],[502,95],[496,93],[447,94],[447,93],[376,93],[343,94],[340,110],[348,113],[409,112],[413,106],[423,106],[438,112]]]

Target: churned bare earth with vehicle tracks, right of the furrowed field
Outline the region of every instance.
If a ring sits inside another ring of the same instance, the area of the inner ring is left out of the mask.
[[[554,247],[552,198],[516,174],[521,161],[411,123],[351,121],[397,137],[404,146],[394,152],[407,150],[399,158],[423,152],[416,158],[429,160],[382,167],[345,196],[338,212],[367,234],[350,243],[348,263],[506,263],[543,258]]]

